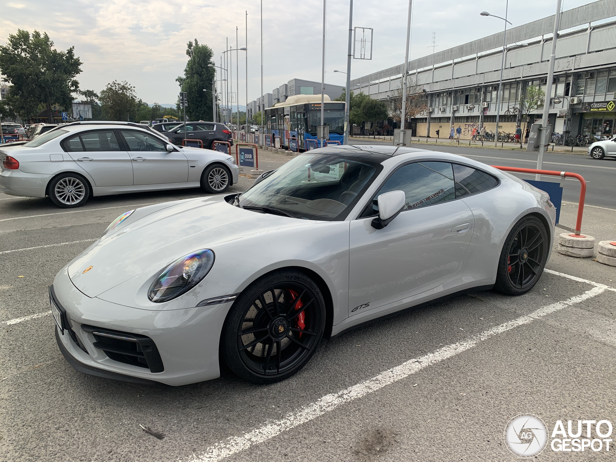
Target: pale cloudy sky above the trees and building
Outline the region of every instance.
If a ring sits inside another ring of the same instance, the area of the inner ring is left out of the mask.
[[[563,0],[564,9],[588,0]],[[503,21],[479,12],[504,16],[505,0],[415,0],[411,59],[429,54],[432,33],[436,51],[496,33]],[[18,28],[46,31],[59,49],[75,46],[83,61],[82,89],[99,92],[110,81],[127,80],[148,103],[174,103],[175,81],[187,60],[186,43],[197,38],[211,46],[217,65],[225,41],[246,46],[245,11],[248,11],[248,100],[261,92],[260,9],[256,0],[23,0],[1,2],[0,43]],[[450,6],[447,6],[447,5]],[[400,64],[408,0],[355,0],[354,26],[374,28],[373,60],[353,60],[352,76]],[[437,9],[435,9],[435,7]],[[514,26],[554,14],[556,0],[509,2]],[[291,78],[320,81],[323,2],[287,0],[263,2],[264,91]],[[349,1],[328,0],[326,26],[326,81],[344,85]],[[245,104],[245,55],[240,52],[240,104]],[[235,91],[235,52],[233,87]]]

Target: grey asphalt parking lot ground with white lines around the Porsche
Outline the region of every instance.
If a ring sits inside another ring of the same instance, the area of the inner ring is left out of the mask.
[[[286,160],[264,153],[259,166]],[[583,230],[616,240],[615,195],[599,188],[612,170],[581,165],[569,169],[601,176],[589,180]],[[240,177],[232,191],[251,184]],[[559,419],[616,421],[616,268],[555,251],[524,296],[483,291],[380,320],[323,341],[278,384],[223,371],[200,384],[144,386],[74,370],[47,314],[54,275],[124,211],[201,195],[93,198],[72,210],[0,195],[0,461],[506,461],[515,458],[503,430],[519,413],[550,430]],[[576,199],[567,192],[561,222],[574,221]],[[537,459],[613,460],[612,451],[548,448]]]

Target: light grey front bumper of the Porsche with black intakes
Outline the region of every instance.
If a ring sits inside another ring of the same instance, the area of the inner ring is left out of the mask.
[[[63,331],[56,326],[56,339],[77,370],[172,386],[220,376],[219,339],[232,301],[179,310],[136,309],[81,293],[67,267],[55,277],[52,292],[66,323]]]

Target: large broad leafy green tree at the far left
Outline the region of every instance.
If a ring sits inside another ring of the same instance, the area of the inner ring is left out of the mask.
[[[75,47],[58,51],[53,46],[47,33],[21,29],[0,46],[0,73],[12,84],[6,104],[23,120],[35,116],[40,103],[53,123],[52,105],[70,108],[79,90],[75,77],[82,63]]]

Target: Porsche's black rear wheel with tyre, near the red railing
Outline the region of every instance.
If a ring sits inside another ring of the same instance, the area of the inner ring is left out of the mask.
[[[514,226],[501,252],[494,288],[509,295],[527,293],[537,284],[548,258],[545,225],[529,216]]]

